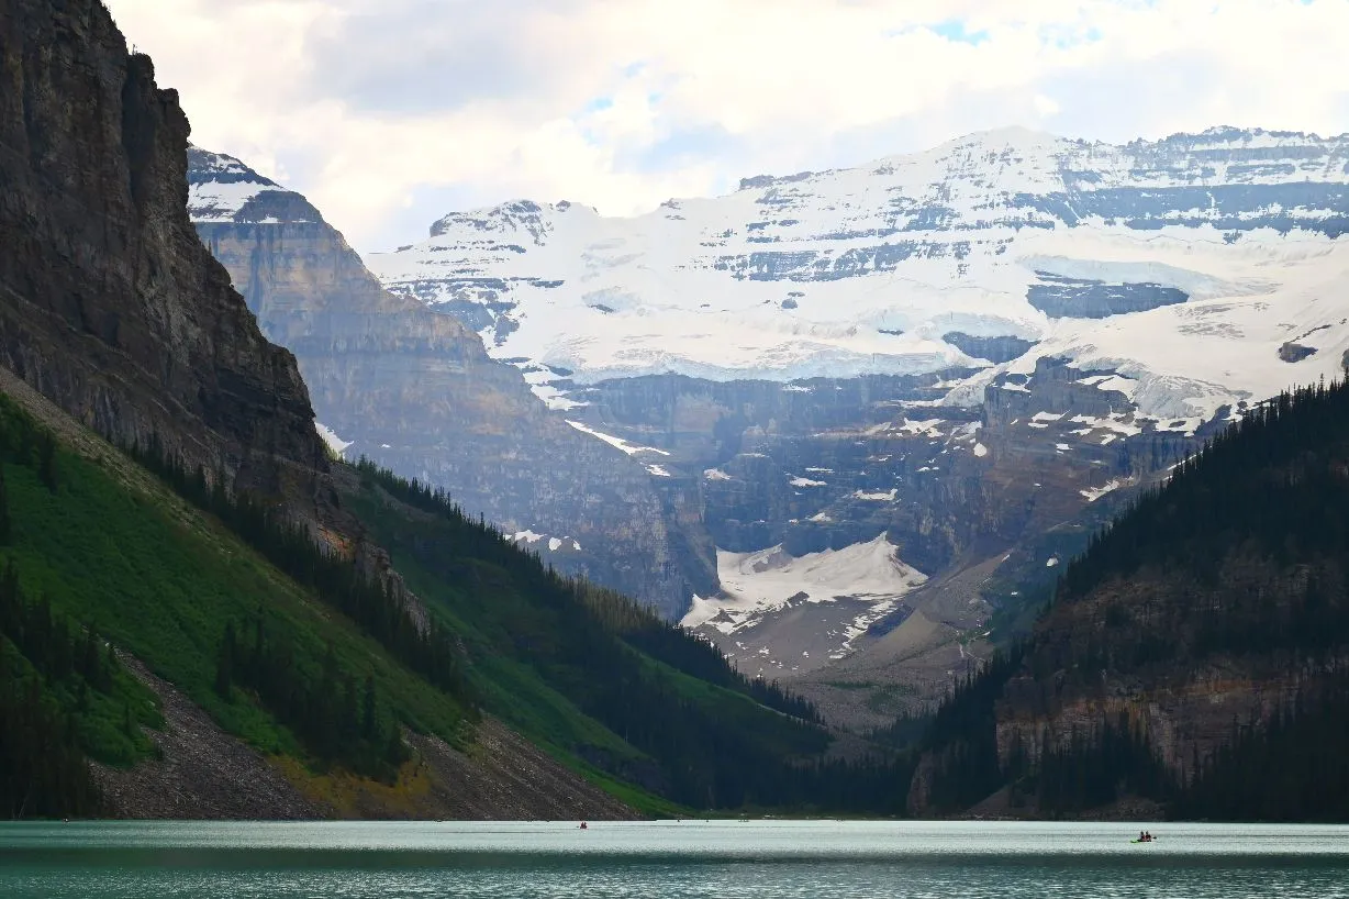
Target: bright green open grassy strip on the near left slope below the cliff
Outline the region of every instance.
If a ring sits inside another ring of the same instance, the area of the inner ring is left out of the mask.
[[[57,613],[96,628],[264,752],[306,757],[295,736],[244,691],[225,699],[213,688],[225,624],[241,625],[259,609],[268,636],[293,647],[301,668],[317,670],[331,645],[341,671],[374,676],[384,709],[417,730],[463,742],[464,710],[451,697],[390,659],[219,521],[148,476],[128,485],[59,444],[51,490],[39,478],[36,450],[22,445],[31,443],[27,431],[42,433],[0,397],[9,518],[0,560],[13,563],[30,597],[46,595]],[[109,761],[135,755],[90,749]]]

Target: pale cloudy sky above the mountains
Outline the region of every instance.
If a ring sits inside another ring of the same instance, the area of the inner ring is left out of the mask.
[[[1349,131],[1349,0],[105,0],[193,143],[360,251],[511,198],[633,215],[1024,126]]]

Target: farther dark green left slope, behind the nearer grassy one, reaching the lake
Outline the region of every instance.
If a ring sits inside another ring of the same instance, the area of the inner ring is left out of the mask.
[[[839,772],[824,773],[828,734],[759,702],[796,709],[789,697],[762,692],[621,597],[552,575],[448,502],[410,503],[406,482],[359,474],[344,503],[463,638],[488,710],[563,756],[692,807],[840,810],[828,786]]]

